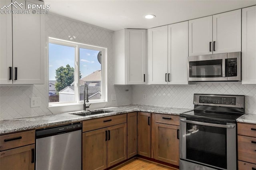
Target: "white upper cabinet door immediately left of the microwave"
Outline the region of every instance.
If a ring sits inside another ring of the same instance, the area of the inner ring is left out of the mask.
[[[188,21],[168,26],[168,84],[188,84]]]

